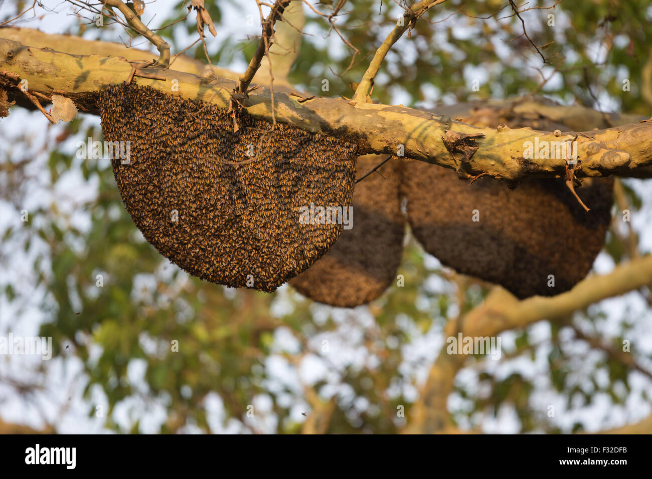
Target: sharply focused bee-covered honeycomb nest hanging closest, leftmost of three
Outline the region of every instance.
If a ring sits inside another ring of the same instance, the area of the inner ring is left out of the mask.
[[[137,85],[102,91],[98,107],[104,139],[130,141],[130,163],[111,160],[126,210],[193,276],[271,292],[340,236],[342,224],[302,224],[301,207],[351,204],[356,145],[284,124],[270,134],[246,113],[233,132],[226,109]]]

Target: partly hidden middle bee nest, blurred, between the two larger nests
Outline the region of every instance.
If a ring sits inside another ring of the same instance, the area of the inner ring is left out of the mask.
[[[358,175],[385,156],[357,160]],[[355,185],[353,227],[344,229],[327,254],[289,284],[312,300],[353,308],[383,294],[396,278],[405,233],[400,209],[401,160],[392,158],[378,173]]]

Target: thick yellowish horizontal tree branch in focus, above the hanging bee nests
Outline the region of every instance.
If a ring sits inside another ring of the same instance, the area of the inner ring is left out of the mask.
[[[82,111],[91,112],[96,112],[97,91],[122,83],[132,74],[132,65],[124,59],[69,55],[51,49],[28,48],[6,39],[0,40],[0,69],[28,80],[29,91],[65,94]],[[156,78],[136,76],[134,81],[171,94],[171,81],[177,80],[179,91],[174,94],[211,102],[220,108],[229,107],[235,87],[233,81],[209,80],[166,68],[147,70]],[[6,87],[11,86],[6,76],[4,83]],[[341,98],[314,98],[300,103],[300,99],[286,92],[276,94],[276,121],[347,138],[360,146],[360,154],[396,154],[399,145],[403,145],[406,156],[456,169],[462,177],[484,173],[509,182],[523,177],[563,177],[566,160],[525,159],[527,141],[554,145],[576,138],[581,161],[576,170],[579,177],[629,176],[652,164],[652,123],[627,124],[585,134],[554,134],[531,128],[477,128],[404,106],[365,102],[351,105]],[[272,121],[269,88],[256,89],[243,105],[251,115]],[[443,141],[443,137],[451,134],[475,136],[475,154],[458,162]]]

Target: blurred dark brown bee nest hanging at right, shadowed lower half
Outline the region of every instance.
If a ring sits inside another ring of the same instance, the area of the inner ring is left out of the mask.
[[[556,179],[528,179],[510,190],[493,178],[469,185],[451,169],[406,161],[402,181],[409,224],[424,250],[518,298],[557,295],[586,276],[610,225],[612,188],[610,178],[584,179],[576,192],[586,212]],[[550,274],[555,287],[548,287]]]

